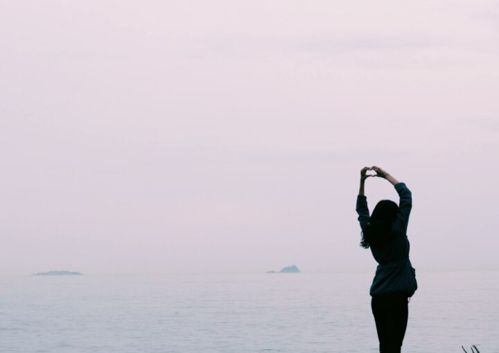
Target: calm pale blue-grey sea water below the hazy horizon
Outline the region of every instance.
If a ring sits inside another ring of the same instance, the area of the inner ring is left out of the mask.
[[[499,352],[499,273],[418,273],[403,352]],[[371,274],[0,277],[0,352],[377,352]]]

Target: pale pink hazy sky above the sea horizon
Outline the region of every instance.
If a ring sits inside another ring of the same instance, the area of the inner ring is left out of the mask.
[[[371,165],[417,271],[499,269],[497,1],[0,8],[0,275],[373,271]]]

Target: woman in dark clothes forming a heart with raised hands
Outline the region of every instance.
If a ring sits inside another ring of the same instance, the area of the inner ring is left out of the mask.
[[[376,175],[368,175],[374,170]],[[364,183],[368,177],[380,177],[394,185],[400,202],[381,200],[369,217]],[[408,322],[409,298],[417,289],[416,273],[409,260],[407,228],[412,208],[412,194],[385,170],[365,167],[360,171],[360,190],[356,211],[362,229],[363,248],[371,248],[378,262],[371,284],[371,309],[381,353],[400,352]]]

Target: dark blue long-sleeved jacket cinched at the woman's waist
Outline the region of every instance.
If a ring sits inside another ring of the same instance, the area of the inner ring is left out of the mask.
[[[407,228],[412,208],[412,194],[405,183],[396,183],[395,190],[399,193],[399,212],[393,224],[394,237],[382,246],[370,246],[374,260],[378,262],[376,275],[371,284],[369,294],[403,292],[412,296],[417,289],[416,271],[409,260],[409,239]],[[369,221],[367,197],[358,195],[356,211],[362,231]]]

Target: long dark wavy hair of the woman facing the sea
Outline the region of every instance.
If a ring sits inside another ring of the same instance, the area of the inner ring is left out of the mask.
[[[382,246],[389,239],[392,239],[394,232],[392,225],[399,211],[399,205],[392,200],[381,200],[374,208],[367,226],[362,230],[362,240],[360,246],[369,248],[369,246]]]

